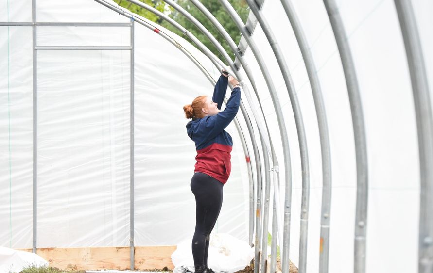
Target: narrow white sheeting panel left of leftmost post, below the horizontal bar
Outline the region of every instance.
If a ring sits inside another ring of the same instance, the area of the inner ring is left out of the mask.
[[[32,43],[28,37],[32,36],[32,29],[9,27],[8,30],[7,27],[0,27],[0,36],[1,245],[31,247],[32,231],[29,227],[32,226],[33,200],[33,78]],[[14,202],[15,205],[12,206],[12,200],[19,202]]]

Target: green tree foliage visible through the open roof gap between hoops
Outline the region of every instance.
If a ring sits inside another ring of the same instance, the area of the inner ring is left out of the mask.
[[[227,63],[223,56],[218,52],[218,50],[212,45],[212,43],[209,41],[209,39],[206,37],[205,34],[200,32],[198,28],[196,28],[185,16],[180,14],[178,11],[174,10],[172,7],[170,7],[168,4],[166,4],[162,0],[140,0],[141,2],[144,2],[157,10],[164,12],[165,14],[169,14],[171,18],[176,20],[180,25],[182,25],[184,28],[186,28],[189,32],[191,32],[194,36],[196,36],[207,48],[209,48],[218,58],[220,58],[224,63]],[[170,23],[167,21],[159,18],[155,14],[135,5],[131,4],[127,0],[115,0],[116,3],[118,3],[120,6],[125,7],[129,9],[130,11],[143,16],[149,20],[152,20],[163,27],[169,29],[170,31],[182,36],[183,33],[178,31],[175,27],[173,27]],[[236,24],[233,22],[233,20],[230,18],[230,16],[225,12],[225,9],[223,6],[219,3],[218,0],[201,0],[202,4],[212,13],[213,16],[216,17],[216,19],[223,25],[225,30],[230,34],[231,38],[235,41],[236,44],[239,44],[239,41],[241,40],[241,32],[236,27]],[[246,19],[249,14],[248,5],[246,4],[245,0],[229,0],[233,8],[236,10],[236,12],[241,16],[243,22],[246,22]],[[192,16],[194,16],[200,23],[202,23],[205,28],[208,29],[209,32],[212,33],[212,35],[218,40],[218,42],[225,48],[225,50],[229,53],[229,56],[232,58],[232,60],[235,59],[234,53],[232,53],[232,50],[228,46],[228,44],[225,42],[224,38],[221,36],[221,34],[216,30],[216,28],[212,25],[212,23],[206,18],[206,16],[197,9],[190,1],[188,0],[177,0],[177,3],[183,7],[185,10],[187,10]],[[188,39],[187,37],[184,37],[185,39]],[[191,41],[190,41],[191,42]],[[196,46],[196,45],[195,45]],[[198,47],[197,47],[198,48]]]

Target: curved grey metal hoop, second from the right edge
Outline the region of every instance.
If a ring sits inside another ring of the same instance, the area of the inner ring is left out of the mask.
[[[355,72],[355,64],[353,63],[346,30],[344,29],[338,7],[334,0],[323,0],[323,3],[328,12],[329,21],[332,26],[332,31],[334,32],[338,51],[340,52],[341,63],[346,78],[350,112],[352,113],[357,176],[354,272],[364,273],[368,204],[368,165],[363,108]]]

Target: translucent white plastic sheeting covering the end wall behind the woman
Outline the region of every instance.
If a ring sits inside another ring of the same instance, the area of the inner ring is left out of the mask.
[[[17,9],[31,10],[23,2],[9,2],[9,21]],[[129,22],[91,0],[36,5],[39,22]],[[0,27],[0,35],[0,241],[31,248],[32,28]],[[136,23],[134,35],[135,245],[174,245],[192,236],[195,223],[196,152],[182,107],[211,96],[213,86],[155,32]],[[197,49],[176,39],[218,79]],[[37,28],[38,46],[129,44],[129,27]],[[37,247],[129,245],[130,52],[38,50],[37,130]],[[247,240],[245,158],[236,129],[228,130],[233,172],[215,231]]]

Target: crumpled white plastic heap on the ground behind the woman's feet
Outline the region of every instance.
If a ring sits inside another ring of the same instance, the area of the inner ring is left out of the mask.
[[[183,273],[187,268],[194,272],[191,252],[192,238],[177,245],[172,254],[174,273]],[[235,272],[244,269],[254,257],[254,248],[229,234],[211,234],[208,252],[208,268],[215,272]]]

